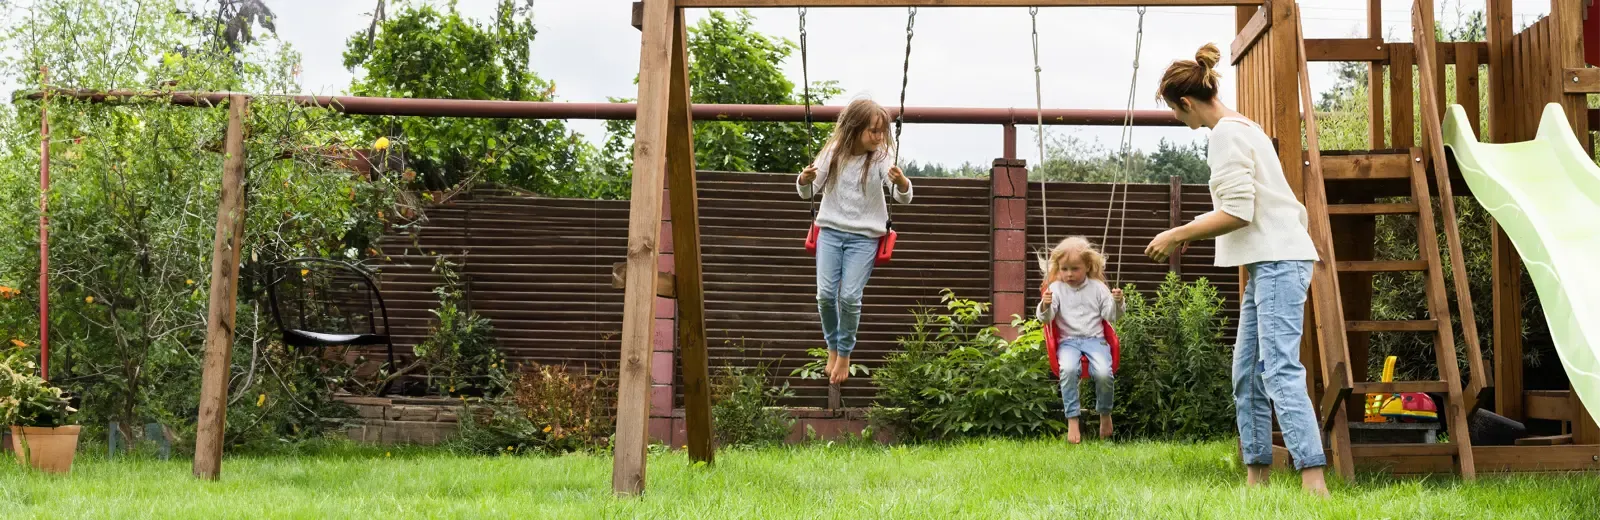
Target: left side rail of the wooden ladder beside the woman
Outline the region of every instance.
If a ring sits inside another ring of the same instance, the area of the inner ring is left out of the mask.
[[[1283,5],[1288,3],[1288,5]],[[1274,11],[1283,10],[1282,16],[1274,16],[1275,19],[1283,19],[1288,24],[1280,24],[1283,30],[1277,34],[1285,34],[1286,38],[1283,45],[1274,43],[1274,50],[1280,51],[1275,58],[1286,58],[1288,66],[1293,67],[1288,82],[1278,83],[1285,93],[1293,94],[1290,98],[1290,106],[1278,106],[1278,114],[1298,112],[1296,109],[1306,107],[1306,154],[1309,155],[1304,163],[1299,160],[1301,154],[1296,146],[1283,146],[1282,152],[1293,152],[1286,155],[1294,166],[1306,166],[1304,178],[1290,179],[1291,186],[1301,186],[1302,198],[1306,202],[1306,213],[1309,214],[1309,232],[1312,243],[1317,248],[1318,262],[1312,264],[1310,278],[1310,314],[1314,325],[1317,328],[1315,342],[1317,350],[1322,352],[1320,371],[1322,381],[1330,386],[1325,394],[1344,394],[1336,395],[1331,402],[1333,410],[1328,416],[1331,424],[1325,426],[1328,434],[1328,450],[1333,453],[1330,462],[1341,477],[1346,480],[1355,478],[1355,462],[1350,458],[1350,430],[1347,427],[1347,414],[1339,413],[1339,405],[1347,403],[1344,397],[1349,397],[1350,386],[1350,365],[1346,358],[1349,349],[1346,347],[1344,338],[1344,307],[1339,302],[1339,278],[1333,266],[1338,262],[1333,251],[1333,229],[1328,219],[1328,194],[1326,182],[1322,178],[1322,149],[1317,141],[1317,110],[1312,102],[1310,88],[1310,70],[1306,66],[1306,35],[1301,34],[1301,13],[1299,6],[1291,2],[1274,3]],[[1277,38],[1277,35],[1274,35]],[[1290,139],[1299,128],[1299,120],[1293,123],[1283,123],[1280,130],[1280,142],[1294,142],[1298,139]],[[1296,168],[1299,170],[1299,168]],[[1342,389],[1341,389],[1342,387]]]

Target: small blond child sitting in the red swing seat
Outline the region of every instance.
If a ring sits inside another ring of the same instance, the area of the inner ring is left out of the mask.
[[[1106,342],[1101,320],[1117,322],[1122,317],[1122,290],[1106,285],[1106,256],[1083,237],[1061,240],[1050,256],[1040,254],[1038,266],[1045,272],[1038,320],[1054,326],[1061,338],[1056,349],[1061,363],[1061,403],[1067,413],[1067,442],[1083,440],[1078,430],[1080,357],[1090,360],[1101,438],[1110,438],[1115,381],[1110,346]]]

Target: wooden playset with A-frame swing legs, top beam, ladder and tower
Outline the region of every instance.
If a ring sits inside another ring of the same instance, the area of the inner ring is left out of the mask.
[[[1413,3],[1413,42],[1390,43],[1381,35],[1379,0],[1368,0],[1368,37],[1306,40],[1299,8],[1291,0],[646,0],[635,5],[642,30],[638,122],[634,149],[629,248],[621,352],[616,459],[613,488],[645,488],[646,419],[650,408],[651,339],[656,296],[677,298],[677,344],[685,386],[688,450],[710,462],[704,283],[701,275],[696,168],[688,93],[685,8],[798,8],[798,6],[1234,6],[1238,37],[1229,59],[1237,66],[1237,107],[1278,144],[1283,171],[1310,214],[1310,232],[1322,256],[1314,270],[1302,358],[1312,400],[1326,432],[1333,469],[1354,477],[1355,467],[1397,474],[1594,470],[1600,469],[1600,429],[1568,392],[1523,392],[1520,259],[1509,238],[1494,238],[1494,373],[1478,346],[1470,306],[1450,310],[1445,269],[1466,280],[1456,229],[1454,194],[1466,194],[1448,173],[1440,138],[1445,107],[1445,67],[1454,66],[1456,99],[1478,122],[1480,88],[1490,90],[1485,141],[1528,139],[1547,102],[1568,107],[1571,125],[1589,133],[1587,98],[1600,93],[1600,75],[1586,70],[1582,27],[1586,0],[1552,0],[1552,13],[1523,32],[1512,30],[1510,0],[1488,0],[1488,42],[1435,42],[1434,2]],[[1195,42],[1198,43],[1203,42]],[[1179,56],[1174,56],[1179,58]],[[1368,62],[1371,66],[1371,149],[1322,152],[1310,110],[1307,61]],[[1488,66],[1488,74],[1480,67]],[[1386,90],[1386,78],[1394,88]],[[1414,86],[1416,85],[1416,86]],[[1154,93],[1150,93],[1154,94]],[[1304,112],[1301,107],[1307,107]],[[1387,110],[1386,110],[1387,107]],[[1421,131],[1414,128],[1421,123]],[[1581,139],[1589,142],[1590,139]],[[670,198],[670,203],[666,200]],[[1379,202],[1382,200],[1382,202]],[[1403,200],[1403,202],[1395,202]],[[670,214],[670,264],[659,256],[661,216]],[[1418,251],[1413,259],[1376,259],[1378,216],[1414,216]],[[1435,214],[1442,224],[1435,224]],[[1446,237],[1438,243],[1435,226]],[[797,230],[797,246],[803,230]],[[1448,256],[1446,256],[1448,253]],[[1451,259],[1446,266],[1445,259]],[[1373,277],[1421,272],[1429,318],[1371,320]],[[670,288],[670,290],[669,290]],[[1470,302],[1467,286],[1454,290]],[[1482,294],[1480,294],[1482,296]],[[1470,378],[1458,368],[1453,317],[1462,323]],[[1370,382],[1371,334],[1427,334],[1435,346],[1437,381]],[[1493,400],[1482,398],[1498,382]],[[1352,445],[1350,421],[1360,421],[1366,394],[1430,392],[1443,395],[1443,443]],[[1571,435],[1547,445],[1472,446],[1467,418],[1478,408],[1512,419],[1558,419]],[[1286,459],[1280,451],[1278,459]]]

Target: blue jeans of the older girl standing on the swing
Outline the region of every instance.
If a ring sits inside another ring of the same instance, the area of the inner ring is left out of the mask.
[[[872,277],[878,238],[822,227],[816,238],[816,310],[822,315],[827,350],[843,357],[856,350],[861,293]]]

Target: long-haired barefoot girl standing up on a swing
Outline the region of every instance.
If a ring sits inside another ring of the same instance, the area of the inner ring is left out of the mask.
[[[822,194],[816,213],[816,309],[827,341],[827,379],[850,379],[850,354],[861,325],[861,293],[872,277],[878,238],[888,234],[888,203],[910,203],[910,179],[894,165],[890,112],[869,99],[851,101],[816,160],[800,171],[800,198]]]

